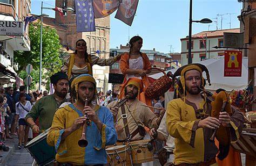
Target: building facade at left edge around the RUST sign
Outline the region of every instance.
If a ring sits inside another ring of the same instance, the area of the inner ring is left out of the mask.
[[[10,23],[9,21],[23,21],[31,12],[30,4],[30,0],[0,0],[1,24]],[[14,83],[16,80],[23,84],[13,68],[15,50],[30,50],[28,27],[22,36],[0,35],[0,84],[2,85]]]

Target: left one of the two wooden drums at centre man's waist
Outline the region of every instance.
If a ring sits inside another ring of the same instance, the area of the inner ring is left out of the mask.
[[[111,166],[116,165],[131,165],[131,158],[129,155],[129,147],[126,145],[117,145],[106,148],[107,162]]]

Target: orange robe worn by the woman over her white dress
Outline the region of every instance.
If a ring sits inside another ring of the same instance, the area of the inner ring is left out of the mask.
[[[142,58],[143,58],[143,70],[151,69],[151,63],[150,63],[149,57],[147,57],[147,55],[145,53],[142,53]],[[129,53],[124,53],[124,55],[121,56],[120,69],[124,75],[126,75],[126,70],[130,69],[129,68],[129,59],[130,59]],[[147,76],[142,77],[143,90],[140,94],[138,94],[138,99],[140,100],[140,102],[143,102],[146,105],[151,105],[151,99],[149,99],[145,96],[145,90],[146,90],[147,86],[149,86],[149,84],[153,81],[154,81],[153,78],[150,78]],[[122,84],[121,91],[120,91],[120,95],[119,95],[120,99],[122,99],[124,97],[124,89],[125,89],[126,83],[127,83],[127,80],[125,77],[124,82]]]

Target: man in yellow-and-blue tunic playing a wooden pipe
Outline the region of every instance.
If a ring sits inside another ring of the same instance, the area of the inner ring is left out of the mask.
[[[96,81],[82,74],[71,83],[71,96],[76,103],[58,109],[47,136],[50,146],[55,146],[58,165],[104,165],[107,163],[105,146],[117,141],[113,116],[109,109],[98,105]],[[85,106],[85,100],[87,105]],[[80,147],[86,114],[91,124],[86,126],[86,147]]]

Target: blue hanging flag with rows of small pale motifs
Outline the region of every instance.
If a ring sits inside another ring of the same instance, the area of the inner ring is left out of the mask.
[[[77,32],[91,32],[95,29],[92,0],[75,0]]]

